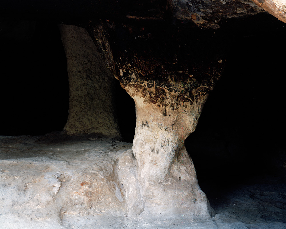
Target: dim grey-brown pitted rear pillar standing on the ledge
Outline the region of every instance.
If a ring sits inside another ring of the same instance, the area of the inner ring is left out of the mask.
[[[69,115],[68,134],[97,133],[119,137],[114,111],[114,77],[85,29],[59,25],[67,56]]]

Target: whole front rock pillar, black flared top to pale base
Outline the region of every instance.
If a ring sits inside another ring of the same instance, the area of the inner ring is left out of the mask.
[[[120,181],[131,214],[208,218],[214,211],[184,141],[196,128],[224,60],[209,39],[213,33],[196,37],[189,27],[164,26],[89,24],[106,66],[136,104],[134,159],[128,156],[136,162],[120,165],[122,171],[136,166],[136,175],[132,172],[132,183],[124,175]]]

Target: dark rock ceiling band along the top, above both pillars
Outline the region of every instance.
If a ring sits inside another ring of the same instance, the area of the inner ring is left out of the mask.
[[[198,26],[218,28],[223,18],[241,17],[263,12],[263,4],[272,1],[246,0],[167,0],[167,1],[49,1],[2,2],[0,12],[3,16],[15,14],[39,18],[54,18],[63,22],[78,23],[84,18],[104,18],[111,20],[169,20],[172,23],[192,21]],[[275,3],[279,1],[274,1]],[[283,3],[278,4],[283,8]],[[280,8],[281,8],[280,7]],[[279,6],[278,6],[279,8]],[[176,22],[177,21],[177,22]]]

